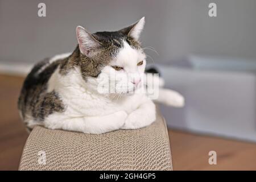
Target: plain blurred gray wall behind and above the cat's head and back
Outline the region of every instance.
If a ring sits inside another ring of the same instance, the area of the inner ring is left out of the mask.
[[[37,15],[45,2],[46,18]],[[209,2],[217,17],[208,16]],[[0,0],[0,61],[35,62],[76,46],[75,27],[89,31],[117,30],[142,16],[144,47],[155,61],[189,54],[256,59],[255,0]]]

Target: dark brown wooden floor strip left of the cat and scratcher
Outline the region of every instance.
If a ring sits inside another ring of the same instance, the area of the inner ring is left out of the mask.
[[[28,137],[17,101],[24,78],[0,76],[0,170],[17,170]]]

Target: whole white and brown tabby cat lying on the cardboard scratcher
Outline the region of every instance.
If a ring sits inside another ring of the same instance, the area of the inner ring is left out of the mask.
[[[39,62],[24,81],[18,109],[28,129],[41,125],[102,134],[139,129],[154,122],[154,102],[147,93],[138,91],[143,88],[146,66],[139,42],[143,27],[144,17],[113,32],[90,34],[78,26],[75,51]],[[102,76],[113,73],[120,77],[111,87],[115,93],[99,92]],[[161,79],[159,84],[163,85]],[[159,88],[156,102],[180,107],[184,98],[173,90]]]

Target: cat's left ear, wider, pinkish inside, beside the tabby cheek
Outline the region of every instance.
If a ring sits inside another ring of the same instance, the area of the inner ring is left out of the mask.
[[[98,52],[98,48],[100,48],[101,43],[90,34],[85,28],[78,26],[76,27],[76,37],[77,42],[79,43],[80,52],[87,56],[92,57],[95,53]]]

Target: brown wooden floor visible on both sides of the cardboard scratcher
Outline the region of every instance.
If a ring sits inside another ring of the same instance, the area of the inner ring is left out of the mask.
[[[16,109],[23,78],[0,75],[0,170],[16,170],[28,134]],[[256,144],[168,130],[174,170],[256,170]],[[208,152],[217,152],[209,165]]]

